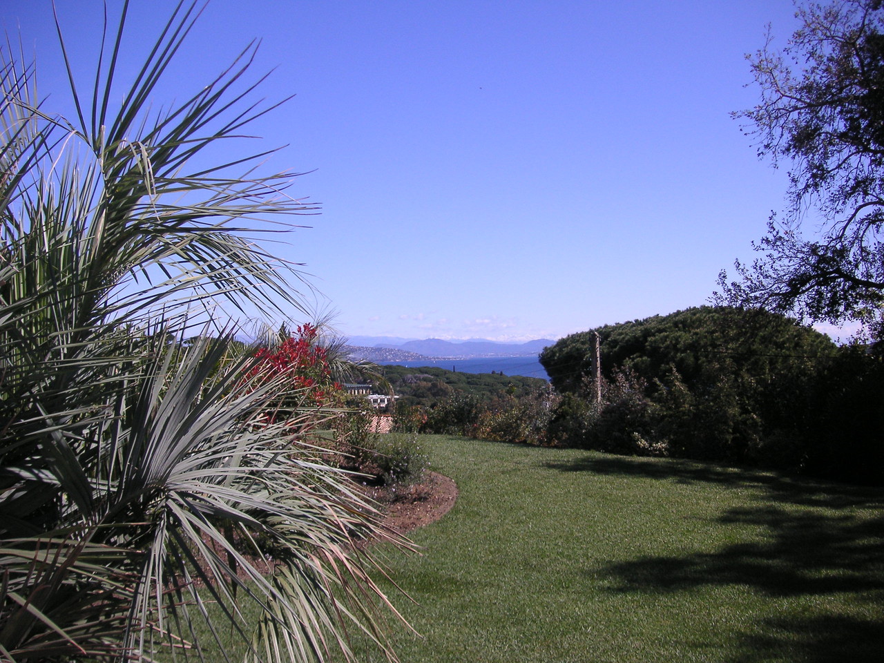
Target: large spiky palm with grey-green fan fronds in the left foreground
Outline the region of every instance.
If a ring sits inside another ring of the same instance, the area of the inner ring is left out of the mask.
[[[261,154],[190,165],[270,110],[236,89],[254,47],[152,114],[198,14],[182,0],[113,107],[127,5],[86,100],[70,78],[72,121],[0,53],[0,658],[226,658],[226,627],[251,658],[323,660],[349,657],[348,624],[392,657],[353,544],[403,542],[314,453],[322,413],[267,422],[289,387],[248,383],[223,328],[225,307],[301,309],[244,232],[314,210],[248,171]],[[217,338],[182,343],[194,321]]]

